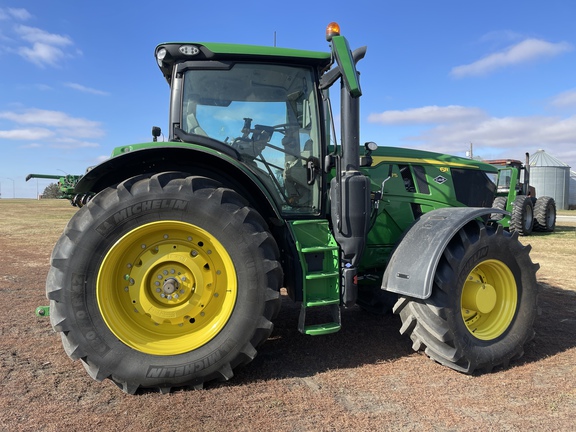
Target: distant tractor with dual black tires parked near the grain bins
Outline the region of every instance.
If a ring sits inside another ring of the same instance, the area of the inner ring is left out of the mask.
[[[526,162],[498,159],[487,163],[498,168],[494,208],[508,214],[494,213],[493,219],[510,231],[522,236],[532,231],[552,232],[556,227],[556,202],[549,196],[536,198],[536,189],[530,185],[530,155]]]

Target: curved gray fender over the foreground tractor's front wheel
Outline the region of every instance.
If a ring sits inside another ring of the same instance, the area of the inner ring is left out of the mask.
[[[426,299],[432,294],[434,273],[444,249],[468,222],[504,210],[447,207],[424,214],[394,250],[382,278],[382,289]]]

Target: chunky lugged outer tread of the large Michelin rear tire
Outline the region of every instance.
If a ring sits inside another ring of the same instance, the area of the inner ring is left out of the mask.
[[[140,384],[128,382],[127,380],[115,376],[111,372],[101,371],[91,361],[79,344],[76,342],[75,329],[67,325],[67,306],[62,303],[63,290],[69,284],[71,269],[68,269],[68,260],[73,256],[79,246],[78,238],[81,233],[93,227],[93,221],[99,220],[108,208],[114,203],[133,199],[135,196],[143,196],[149,193],[164,191],[179,191],[182,194],[208,194],[212,198],[218,198],[223,207],[237,207],[229,215],[230,218],[238,218],[243,224],[250,226],[254,232],[255,245],[261,250],[264,257],[265,275],[268,288],[264,294],[264,311],[258,319],[257,328],[254,330],[250,342],[244,346],[230,362],[226,362],[209,376],[193,378],[191,382],[178,385],[177,387],[189,386],[190,388],[202,388],[203,383],[211,380],[226,381],[234,375],[232,365],[243,365],[249,363],[256,356],[256,347],[262,344],[271,334],[273,324],[271,320],[280,310],[279,287],[282,284],[283,272],[279,263],[279,249],[272,235],[266,228],[264,219],[244,201],[240,195],[231,189],[226,189],[213,179],[206,177],[185,177],[183,173],[166,172],[153,175],[145,180],[147,176],[137,176],[120,183],[115,189],[108,189],[96,195],[88,205],[82,207],[78,213],[70,220],[62,237],[57,242],[51,256],[51,269],[47,278],[46,295],[51,300],[51,324],[55,331],[60,332],[64,349],[73,360],[82,359],[89,375],[97,381],[106,378],[112,380],[124,392],[136,393]],[[225,212],[223,212],[225,213]],[[86,283],[86,281],[84,281]],[[154,387],[161,393],[169,392],[173,387],[167,383],[155,385]]]

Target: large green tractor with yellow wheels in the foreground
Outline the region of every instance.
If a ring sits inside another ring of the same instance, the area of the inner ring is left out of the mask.
[[[496,168],[361,146],[366,48],[336,24],[327,40],[156,47],[168,140],[155,127],[82,176],[51,257],[43,312],[92,378],[131,394],[228,380],[272,333],[281,287],[306,335],[359,305],[399,314],[415,350],[463,373],[522,355],[538,265],[490,219]]]

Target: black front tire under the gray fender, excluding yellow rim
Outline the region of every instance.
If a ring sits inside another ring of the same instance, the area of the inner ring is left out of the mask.
[[[539,266],[529,257],[529,245],[522,246],[516,234],[496,226],[469,222],[443,252],[430,298],[400,297],[394,306],[402,320],[400,333],[410,336],[415,351],[424,350],[438,363],[466,374],[507,367],[534,337]],[[516,309],[508,311],[511,321],[504,323],[502,334],[489,340],[476,337],[467,327],[461,300],[467,278],[487,260],[509,269],[517,293]]]

